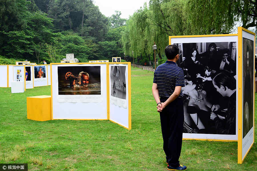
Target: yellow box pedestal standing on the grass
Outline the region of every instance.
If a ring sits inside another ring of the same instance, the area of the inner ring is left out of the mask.
[[[27,118],[35,121],[51,120],[51,95],[27,97]]]

